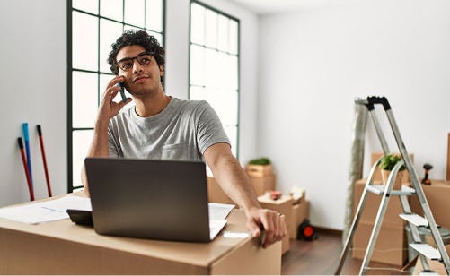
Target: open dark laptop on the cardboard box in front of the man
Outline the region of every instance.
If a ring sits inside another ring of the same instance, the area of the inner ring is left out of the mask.
[[[84,165],[98,234],[186,242],[216,235],[204,162],[86,158]]]

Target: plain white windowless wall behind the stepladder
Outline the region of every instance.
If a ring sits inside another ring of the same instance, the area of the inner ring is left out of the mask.
[[[306,188],[314,225],[342,229],[353,99],[386,96],[419,177],[446,177],[450,2],[358,1],[260,17],[260,154],[278,187]],[[384,112],[379,116],[387,126]],[[381,151],[366,135],[365,177]],[[384,134],[396,148],[389,129]]]

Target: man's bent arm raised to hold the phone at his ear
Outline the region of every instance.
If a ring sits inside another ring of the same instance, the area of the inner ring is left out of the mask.
[[[93,129],[93,141],[86,157],[109,157],[108,150],[108,125],[110,119],[113,116],[119,114],[121,108],[123,108],[131,99],[127,99],[127,102],[119,101],[115,102],[112,99],[116,97],[119,92],[119,87],[116,86],[117,82],[123,82],[122,76],[116,76],[106,87],[106,91],[103,93],[97,119]],[[81,181],[84,185],[84,194],[89,196],[89,185],[86,178],[86,170],[84,165],[81,172]]]

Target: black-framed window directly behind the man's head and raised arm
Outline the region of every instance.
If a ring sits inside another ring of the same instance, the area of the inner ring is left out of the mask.
[[[124,30],[141,29],[163,46],[164,9],[164,0],[67,0],[68,192],[82,186],[100,96],[113,76],[110,45]]]

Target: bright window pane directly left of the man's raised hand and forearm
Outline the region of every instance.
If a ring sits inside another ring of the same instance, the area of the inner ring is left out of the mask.
[[[72,125],[78,127],[93,127],[97,114],[97,74],[72,73]]]

